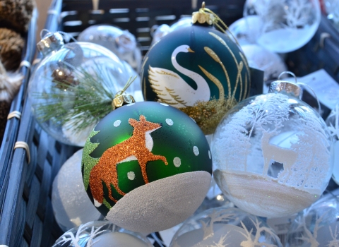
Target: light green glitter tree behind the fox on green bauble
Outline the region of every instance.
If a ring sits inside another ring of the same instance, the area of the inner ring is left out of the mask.
[[[81,161],[81,168],[83,169],[83,185],[87,191],[88,184],[90,183],[90,171],[93,169],[95,164],[99,162],[100,158],[93,158],[90,156],[90,153],[97,148],[100,143],[91,143],[90,138],[93,138],[94,135],[100,131],[92,131],[88,136],[85,147],[83,147],[83,159]],[[86,164],[86,165],[85,165]]]

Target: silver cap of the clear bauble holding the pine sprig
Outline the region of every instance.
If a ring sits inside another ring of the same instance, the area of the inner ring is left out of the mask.
[[[37,43],[37,49],[44,56],[50,52],[60,49],[64,45],[64,38],[59,32],[49,32],[40,42]]]

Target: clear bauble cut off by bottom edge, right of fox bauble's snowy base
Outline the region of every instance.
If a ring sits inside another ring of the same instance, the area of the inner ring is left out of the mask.
[[[258,217],[237,208],[216,207],[184,222],[169,247],[276,246],[274,230]]]

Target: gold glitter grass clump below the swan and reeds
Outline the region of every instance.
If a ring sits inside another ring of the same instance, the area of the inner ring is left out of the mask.
[[[234,98],[220,100],[213,98],[213,100],[208,102],[197,102],[193,107],[182,107],[179,109],[191,116],[200,126],[203,133],[209,135],[214,133],[222,116],[225,116],[225,113],[230,111],[236,104],[237,100]]]

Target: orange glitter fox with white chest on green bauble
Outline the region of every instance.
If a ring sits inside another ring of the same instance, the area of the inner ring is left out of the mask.
[[[143,181],[148,183],[146,173],[146,164],[149,161],[161,159],[167,165],[165,156],[153,155],[153,139],[150,133],[161,128],[161,123],[152,123],[146,121],[145,116],[141,115],[140,121],[129,119],[129,124],[133,126],[133,135],[113,147],[109,147],[100,157],[99,162],[90,171],[90,191],[93,195],[95,206],[102,205],[104,193],[102,181],[108,188],[108,196],[117,203],[117,199],[113,198],[111,184],[121,195],[125,195],[118,185],[117,164],[130,160],[138,160],[143,174]]]

